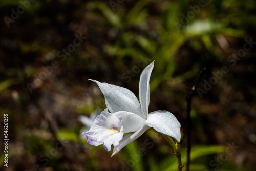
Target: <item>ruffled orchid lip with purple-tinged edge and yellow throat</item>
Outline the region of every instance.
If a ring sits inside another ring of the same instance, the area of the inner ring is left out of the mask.
[[[111,145],[118,145],[123,138],[123,124],[116,116],[105,109],[98,115],[90,130],[83,134],[89,145],[103,145],[106,151],[111,150]]]

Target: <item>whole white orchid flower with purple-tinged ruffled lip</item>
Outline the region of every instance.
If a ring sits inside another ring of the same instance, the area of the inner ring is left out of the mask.
[[[114,146],[112,156],[124,146],[133,142],[146,130],[156,131],[181,141],[181,125],[168,111],[148,113],[150,104],[150,75],[154,61],[140,75],[139,98],[128,89],[91,80],[99,86],[105,97],[106,109],[97,116],[90,130],[83,132],[89,145],[103,145],[106,151]],[[109,112],[110,111],[110,112]],[[124,133],[130,133],[123,137]]]

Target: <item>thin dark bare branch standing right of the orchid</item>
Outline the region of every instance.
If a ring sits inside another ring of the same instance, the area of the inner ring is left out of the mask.
[[[186,163],[186,170],[189,171],[189,164],[190,164],[190,151],[191,151],[191,102],[194,95],[197,94],[197,88],[199,83],[201,82],[203,75],[206,71],[206,68],[204,67],[201,72],[200,76],[196,82],[196,84],[191,88],[191,91],[189,92],[188,96],[186,97],[187,100],[187,163]]]

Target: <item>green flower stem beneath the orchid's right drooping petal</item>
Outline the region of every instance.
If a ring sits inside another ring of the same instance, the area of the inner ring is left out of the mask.
[[[181,143],[178,143],[177,141],[174,142],[174,140],[168,135],[165,135],[165,134],[162,134],[162,135],[169,142],[170,146],[173,147],[174,153],[175,153],[176,158],[177,158],[178,171],[182,171],[183,165],[182,165],[182,162],[181,162],[181,153],[180,153]]]

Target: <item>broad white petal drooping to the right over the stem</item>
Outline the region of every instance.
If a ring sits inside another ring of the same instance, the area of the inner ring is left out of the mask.
[[[180,122],[168,111],[155,111],[148,114],[145,123],[156,131],[175,138],[180,142]]]

